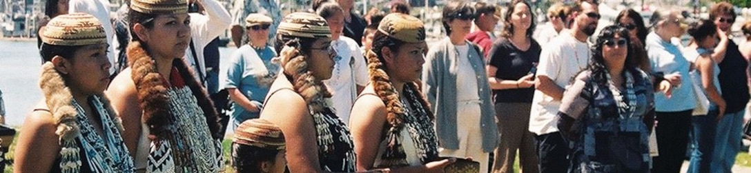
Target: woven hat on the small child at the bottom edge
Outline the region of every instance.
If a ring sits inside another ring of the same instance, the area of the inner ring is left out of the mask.
[[[240,124],[235,130],[232,142],[272,150],[285,149],[282,130],[275,124],[259,118],[250,119]]]

